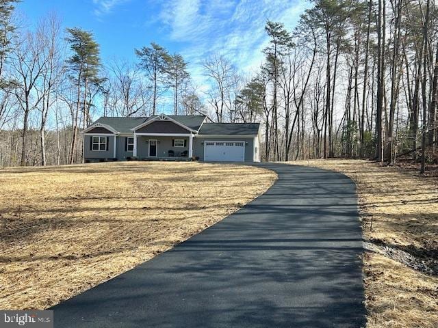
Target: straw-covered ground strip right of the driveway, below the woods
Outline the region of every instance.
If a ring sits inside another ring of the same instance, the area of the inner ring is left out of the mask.
[[[367,327],[437,328],[438,276],[405,261],[438,260],[437,180],[370,161],[294,163],[342,172],[357,184],[364,238],[376,245],[363,258]]]

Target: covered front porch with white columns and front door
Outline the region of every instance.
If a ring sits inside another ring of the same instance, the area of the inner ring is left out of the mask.
[[[193,135],[190,133],[134,133],[133,156],[149,161],[190,160]]]

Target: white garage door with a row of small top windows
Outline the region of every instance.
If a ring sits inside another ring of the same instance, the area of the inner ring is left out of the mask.
[[[244,141],[205,141],[205,161],[244,162]]]

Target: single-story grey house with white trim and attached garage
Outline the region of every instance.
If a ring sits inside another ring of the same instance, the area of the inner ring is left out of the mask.
[[[259,123],[207,123],[206,119],[165,114],[102,117],[83,131],[83,159],[260,161]]]

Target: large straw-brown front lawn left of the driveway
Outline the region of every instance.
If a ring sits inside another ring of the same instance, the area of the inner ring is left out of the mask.
[[[266,169],[126,162],[0,170],[0,309],[44,309],[264,193]]]

